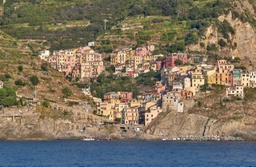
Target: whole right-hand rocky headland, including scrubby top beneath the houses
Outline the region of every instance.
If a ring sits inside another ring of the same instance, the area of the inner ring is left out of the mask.
[[[196,101],[200,101],[202,105],[198,106],[195,102],[184,113],[173,110],[161,113],[146,127],[145,132],[169,138],[218,135],[256,140],[254,101],[224,103],[220,96],[214,95],[207,95]]]

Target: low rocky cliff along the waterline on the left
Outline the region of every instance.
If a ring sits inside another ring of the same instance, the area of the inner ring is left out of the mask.
[[[20,117],[0,117],[0,140],[70,140],[83,137],[97,140],[141,139],[141,132],[122,133],[120,127],[92,125],[89,120],[77,120],[75,123],[63,119],[54,120],[38,115]]]

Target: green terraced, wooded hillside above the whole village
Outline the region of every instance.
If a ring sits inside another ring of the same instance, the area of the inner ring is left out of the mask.
[[[61,50],[86,45],[106,33],[104,19],[108,20],[106,30],[112,39],[100,38],[101,46],[96,49],[106,53],[130,40],[137,42],[135,45],[130,43],[134,47],[158,37],[162,43],[159,49],[183,51],[186,45],[197,44],[200,38],[204,38],[206,27],[211,24],[217,24],[219,32],[230,42],[229,34],[234,34],[234,30],[228,22],[217,20],[219,15],[230,11],[234,18],[254,23],[248,12],[238,14],[234,3],[226,0],[9,0],[4,7],[0,19],[2,30],[14,38],[33,39],[28,46],[34,53],[49,48]],[[135,27],[134,30],[122,30],[123,21]],[[112,26],[116,28],[111,29]],[[137,28],[139,26],[142,28]],[[124,41],[121,42],[120,38]]]

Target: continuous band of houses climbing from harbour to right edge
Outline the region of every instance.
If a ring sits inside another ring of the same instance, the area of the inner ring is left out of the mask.
[[[156,82],[154,89],[137,99],[130,92],[106,93],[103,101],[98,101],[97,113],[123,124],[149,125],[158,113],[170,110],[182,113],[184,101],[201,92],[203,85],[225,85],[224,97],[240,99],[244,97],[244,87],[255,87],[256,71],[235,69],[226,60],[219,60],[215,65],[175,66],[172,58],[189,61],[186,54],[170,54],[168,61],[162,62],[161,81]]]

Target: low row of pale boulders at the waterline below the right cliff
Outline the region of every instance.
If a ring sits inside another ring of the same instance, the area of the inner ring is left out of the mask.
[[[174,138],[162,138],[163,141],[244,141],[242,137],[231,136],[186,136],[186,137],[174,137]]]

